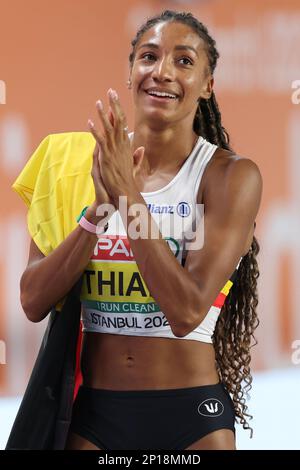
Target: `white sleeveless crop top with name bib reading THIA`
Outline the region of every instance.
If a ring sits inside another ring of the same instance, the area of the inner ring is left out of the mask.
[[[141,193],[169,248],[182,265],[196,217],[201,229],[197,194],[203,172],[216,148],[199,137],[179,172],[166,186]],[[202,246],[201,237],[197,243]],[[85,270],[80,297],[83,331],[211,343],[218,315],[232,283],[233,277],[195,330],[183,338],[174,336],[168,320],[141,277],[122,218],[116,211],[109,220],[107,232],[98,239]]]

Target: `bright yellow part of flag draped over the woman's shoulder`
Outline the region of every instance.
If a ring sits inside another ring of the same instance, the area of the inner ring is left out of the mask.
[[[29,233],[45,256],[76,228],[76,217],[95,199],[94,147],[88,132],[49,135],[12,185],[28,207]]]

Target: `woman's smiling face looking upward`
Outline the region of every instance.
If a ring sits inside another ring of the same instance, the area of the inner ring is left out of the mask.
[[[189,26],[161,22],[146,31],[135,48],[130,73],[138,122],[193,125],[199,97],[209,98],[205,43]]]

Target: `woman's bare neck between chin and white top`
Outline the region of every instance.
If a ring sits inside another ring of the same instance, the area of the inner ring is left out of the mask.
[[[152,175],[156,172],[178,170],[194,148],[198,135],[189,128],[182,127],[153,129],[149,125],[135,125],[132,138],[132,150],[145,147],[145,154],[140,172]]]

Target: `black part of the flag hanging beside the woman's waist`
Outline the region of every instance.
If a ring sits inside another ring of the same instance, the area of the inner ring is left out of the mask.
[[[53,309],[6,450],[64,449],[70,426],[82,276]]]

